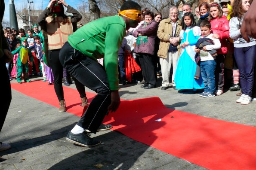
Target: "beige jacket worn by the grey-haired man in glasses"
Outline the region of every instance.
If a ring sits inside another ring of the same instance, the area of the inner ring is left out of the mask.
[[[179,37],[179,33],[181,30],[182,30],[182,27],[181,27],[180,21],[178,20],[176,25],[175,37]],[[167,52],[170,46],[169,35],[172,35],[172,32],[173,32],[173,26],[172,26],[170,17],[160,21],[160,24],[157,30],[157,36],[160,39],[159,50],[157,52],[158,57],[167,58]],[[178,45],[177,45],[179,55],[181,52],[181,48],[179,45],[180,42],[181,42],[181,39],[179,38]]]

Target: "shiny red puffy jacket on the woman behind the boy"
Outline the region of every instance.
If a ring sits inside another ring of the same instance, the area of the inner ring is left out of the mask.
[[[227,54],[229,38],[229,22],[226,16],[222,15],[221,18],[214,18],[211,21],[212,32],[219,35],[221,48],[217,50],[217,54]]]

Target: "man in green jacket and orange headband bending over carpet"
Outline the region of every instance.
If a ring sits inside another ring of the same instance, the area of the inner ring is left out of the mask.
[[[68,37],[59,58],[64,68],[79,82],[97,93],[86,112],[68,133],[67,140],[81,146],[93,147],[101,142],[93,140],[88,132],[96,133],[108,112],[115,112],[120,104],[118,94],[117,52],[125,30],[141,21],[141,7],[126,1],[118,15],[92,21]],[[104,58],[104,67],[97,59]]]

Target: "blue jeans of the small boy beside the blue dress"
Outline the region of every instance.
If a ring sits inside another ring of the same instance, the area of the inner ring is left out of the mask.
[[[216,61],[215,60],[208,60],[208,61],[201,61],[201,75],[204,80],[204,91],[209,93],[215,92],[215,68],[216,68]]]

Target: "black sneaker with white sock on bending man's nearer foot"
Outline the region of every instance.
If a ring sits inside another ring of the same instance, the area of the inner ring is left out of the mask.
[[[85,147],[94,147],[98,146],[101,143],[98,140],[94,140],[90,136],[91,135],[87,132],[83,132],[81,134],[73,134],[71,131],[69,131],[66,140]]]

